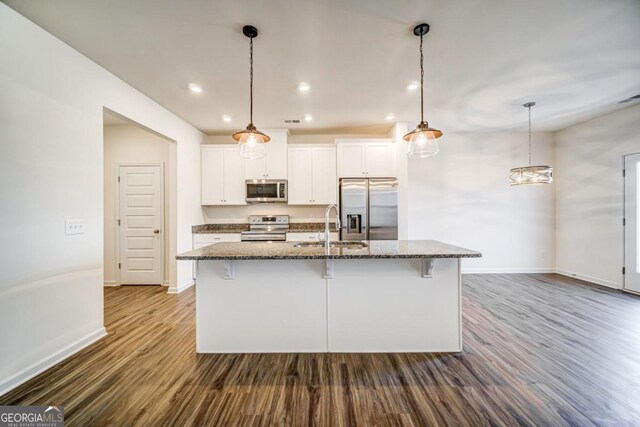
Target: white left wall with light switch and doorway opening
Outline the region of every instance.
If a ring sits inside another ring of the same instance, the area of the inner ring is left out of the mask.
[[[103,107],[177,141],[172,255],[202,221],[203,135],[1,3],[0,58],[2,394],[104,334]],[[68,218],[85,233],[65,236]]]

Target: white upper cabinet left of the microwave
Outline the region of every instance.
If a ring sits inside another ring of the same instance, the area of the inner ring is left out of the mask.
[[[203,145],[203,205],[245,205],[244,159],[236,145]]]

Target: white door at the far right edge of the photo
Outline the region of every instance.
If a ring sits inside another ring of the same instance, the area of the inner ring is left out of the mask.
[[[640,153],[624,158],[624,287],[640,292]]]

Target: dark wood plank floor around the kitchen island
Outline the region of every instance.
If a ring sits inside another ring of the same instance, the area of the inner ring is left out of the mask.
[[[109,335],[0,397],[66,425],[640,425],[640,298],[464,276],[460,354],[197,355],[194,289],[105,289]]]

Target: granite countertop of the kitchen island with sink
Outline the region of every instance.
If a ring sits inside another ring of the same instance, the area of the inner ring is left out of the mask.
[[[296,242],[223,242],[176,256],[177,260],[479,258],[480,252],[435,240],[372,240],[362,249],[295,247]]]

